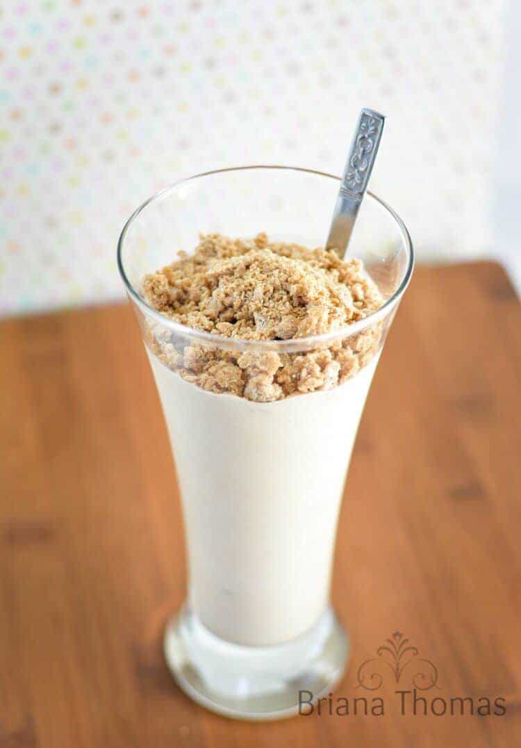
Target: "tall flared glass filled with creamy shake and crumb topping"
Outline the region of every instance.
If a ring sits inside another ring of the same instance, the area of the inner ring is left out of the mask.
[[[229,716],[293,714],[348,657],[330,607],[336,524],[412,248],[369,195],[349,257],[321,249],[337,189],[289,168],[206,174],[145,203],[120,239],[185,519],[167,663]]]

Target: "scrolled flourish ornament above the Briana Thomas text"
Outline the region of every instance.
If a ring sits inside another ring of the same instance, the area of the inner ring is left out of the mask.
[[[357,671],[358,688],[375,691],[383,684],[383,675],[389,669],[400,683],[402,675],[407,681],[421,691],[439,688],[438,669],[431,660],[419,657],[419,649],[410,644],[410,640],[395,631],[376,650],[377,657],[363,662]]]

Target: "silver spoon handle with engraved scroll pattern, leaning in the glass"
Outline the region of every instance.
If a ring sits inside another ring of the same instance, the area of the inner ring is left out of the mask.
[[[383,114],[372,109],[363,109],[358,118],[326,242],[326,248],[333,249],[342,258],[371,177],[384,122]]]

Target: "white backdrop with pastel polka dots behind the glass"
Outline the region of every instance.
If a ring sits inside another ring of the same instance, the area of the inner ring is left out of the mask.
[[[363,105],[388,117],[372,188],[420,256],[484,254],[502,13],[502,0],[0,3],[0,313],[123,295],[123,222],[179,177],[260,162],[339,173]]]

